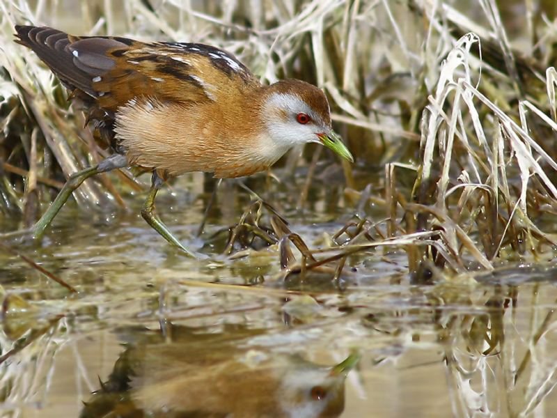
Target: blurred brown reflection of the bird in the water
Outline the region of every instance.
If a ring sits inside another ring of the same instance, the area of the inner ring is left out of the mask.
[[[130,343],[81,418],[338,417],[344,381],[359,361],[322,366],[299,355],[242,348],[262,330],[200,333],[173,327],[173,342]],[[136,334],[137,335],[137,334]]]

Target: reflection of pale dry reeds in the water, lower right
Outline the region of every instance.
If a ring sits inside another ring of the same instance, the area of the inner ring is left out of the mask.
[[[530,273],[535,277],[539,272]],[[501,274],[524,276],[524,270]],[[555,301],[551,295],[540,297],[539,290],[538,285],[521,290],[496,286],[479,297],[460,300],[462,308],[468,307],[460,312],[439,306],[439,342],[455,416],[528,417],[557,384],[551,348],[554,310],[544,315],[541,306]]]

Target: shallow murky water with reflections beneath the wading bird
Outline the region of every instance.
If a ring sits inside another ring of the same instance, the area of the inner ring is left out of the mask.
[[[226,236],[207,243],[242,215],[241,189],[225,186],[203,240],[191,238],[201,191],[157,199],[173,233],[209,256],[201,261],[143,222],[139,195],[112,212],[70,204],[41,245],[15,247],[79,295],[0,255],[2,416],[286,417],[292,404],[339,416],[342,400],[343,417],[554,416],[553,268],[508,265],[477,280],[411,286],[405,254],[377,251],[348,259],[343,293],[287,292],[276,247],[230,259],[217,253]],[[320,197],[322,187],[312,192]],[[350,208],[319,203],[302,221],[292,196],[279,187],[265,197],[281,202],[310,247],[342,226],[329,219],[350,217]],[[351,355],[359,364],[344,388],[342,378],[333,385],[325,368]]]

